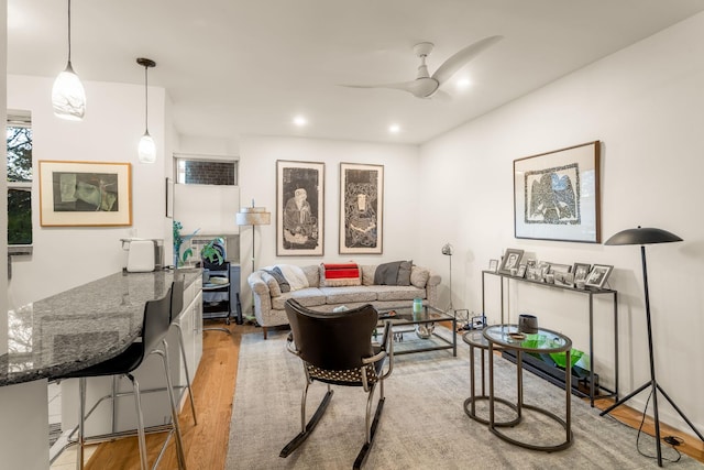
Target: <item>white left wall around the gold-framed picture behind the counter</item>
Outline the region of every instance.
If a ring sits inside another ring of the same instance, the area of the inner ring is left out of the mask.
[[[150,133],[157,143],[157,162],[145,165],[136,159],[138,142],[144,133],[143,86],[84,81],[86,118],[70,122],[53,114],[53,80],[8,76],[8,107],[32,112],[34,135],[34,254],[14,258],[11,292],[18,305],[119,271],[125,256],[121,238],[170,237],[170,220],[165,222],[164,210],[164,177],[170,157],[165,162],[164,152],[169,151],[170,155],[173,130],[165,116],[164,89],[150,87]],[[132,226],[40,227],[40,160],[132,163]],[[170,250],[170,240],[166,243]]]

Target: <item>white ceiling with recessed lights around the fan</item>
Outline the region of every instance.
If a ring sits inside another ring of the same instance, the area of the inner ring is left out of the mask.
[[[8,0],[9,74],[63,70],[66,10]],[[84,80],[130,84],[144,83],[136,57],[154,59],[150,85],[167,90],[184,135],[418,144],[700,11],[704,0],[73,0],[72,58]],[[415,78],[422,41],[436,44],[432,74],[495,34],[457,75],[473,86],[444,88],[451,101],[338,86]]]

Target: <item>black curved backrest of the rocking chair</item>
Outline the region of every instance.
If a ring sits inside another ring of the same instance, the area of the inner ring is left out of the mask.
[[[378,314],[372,305],[328,314],[288,299],[285,308],[304,361],[320,369],[342,371],[360,368],[363,358],[373,356],[372,335]]]

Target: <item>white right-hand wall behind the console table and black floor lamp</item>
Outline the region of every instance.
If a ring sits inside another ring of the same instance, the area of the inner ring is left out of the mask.
[[[637,226],[684,239],[647,247],[657,373],[661,386],[704,429],[698,367],[704,332],[703,130],[704,14],[698,14],[424,145],[420,172],[428,192],[420,208],[432,219],[425,238],[432,247],[446,238],[455,244],[455,308],[481,310],[480,273],[506,248],[558,263],[613,264],[610,285],[619,291],[622,396],[649,380],[639,248],[514,238],[513,161],[601,140],[603,241]],[[436,256],[432,264],[442,272],[442,262]],[[530,305],[542,326],[575,335],[584,349],[584,330],[575,330],[580,323],[574,319],[582,318],[586,328],[584,302],[563,297],[518,289],[510,299],[513,319]],[[536,305],[540,302],[542,307]],[[487,314],[496,315],[496,309]],[[609,337],[608,306],[597,305],[596,314],[597,332]],[[604,342],[600,347],[608,346]],[[608,363],[600,365],[605,375],[613,372]],[[629,404],[642,408],[646,398],[644,392]],[[662,397],[660,402],[667,422],[688,428]]]

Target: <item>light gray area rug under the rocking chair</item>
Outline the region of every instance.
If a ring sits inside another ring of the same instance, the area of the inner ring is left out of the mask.
[[[448,332],[449,334],[449,332]],[[333,387],[334,394],[318,427],[293,455],[280,449],[299,431],[304,375],[300,360],[285,349],[286,332],[242,337],[234,408],[226,468],[234,469],[349,469],[364,441],[366,394],[356,387]],[[477,361],[481,354],[475,354]],[[386,381],[386,403],[365,469],[642,469],[657,461],[638,453],[635,429],[601,417],[572,397],[573,445],[547,453],[513,446],[486,426],[470,419],[464,401],[470,394],[469,347],[460,340],[458,357],[431,351],[396,357]],[[497,394],[515,398],[515,364],[495,360]],[[564,417],[564,391],[524,372],[525,403]],[[326,386],[314,383],[308,394],[308,416],[317,408]],[[378,392],[377,392],[378,393]],[[375,394],[375,397],[377,394]],[[486,414],[486,405],[477,413]],[[508,409],[501,411],[507,413]],[[501,416],[497,415],[497,419]],[[525,411],[524,422],[506,430],[532,444],[558,444],[563,428],[543,415]],[[641,435],[641,450],[654,456],[654,440]],[[676,452],[663,445],[663,457]],[[682,456],[666,468],[702,469]]]

